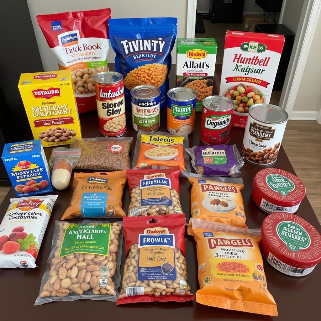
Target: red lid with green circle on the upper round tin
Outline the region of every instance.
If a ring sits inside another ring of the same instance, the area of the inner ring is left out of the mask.
[[[253,190],[268,202],[291,207],[305,196],[305,186],[295,175],[278,168],[265,168],[256,173]]]

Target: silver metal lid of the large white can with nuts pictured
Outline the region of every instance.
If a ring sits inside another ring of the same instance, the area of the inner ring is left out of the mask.
[[[288,113],[275,105],[256,104],[249,108],[249,115],[265,124],[281,124],[288,120]]]

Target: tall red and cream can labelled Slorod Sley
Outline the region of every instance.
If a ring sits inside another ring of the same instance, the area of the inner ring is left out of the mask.
[[[107,137],[126,133],[123,75],[104,71],[94,76],[100,133]]]

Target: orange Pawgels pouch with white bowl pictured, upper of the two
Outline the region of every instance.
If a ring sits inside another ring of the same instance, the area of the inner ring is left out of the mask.
[[[242,178],[190,174],[188,180],[192,184],[193,218],[247,228]],[[188,223],[187,233],[193,235],[192,221]]]

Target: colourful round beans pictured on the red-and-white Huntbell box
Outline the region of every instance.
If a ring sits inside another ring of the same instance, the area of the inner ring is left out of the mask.
[[[233,100],[233,113],[239,116],[245,116],[245,113],[248,114],[248,108],[252,105],[265,102],[262,91],[259,91],[254,86],[247,86],[242,83],[228,88],[223,96]]]

